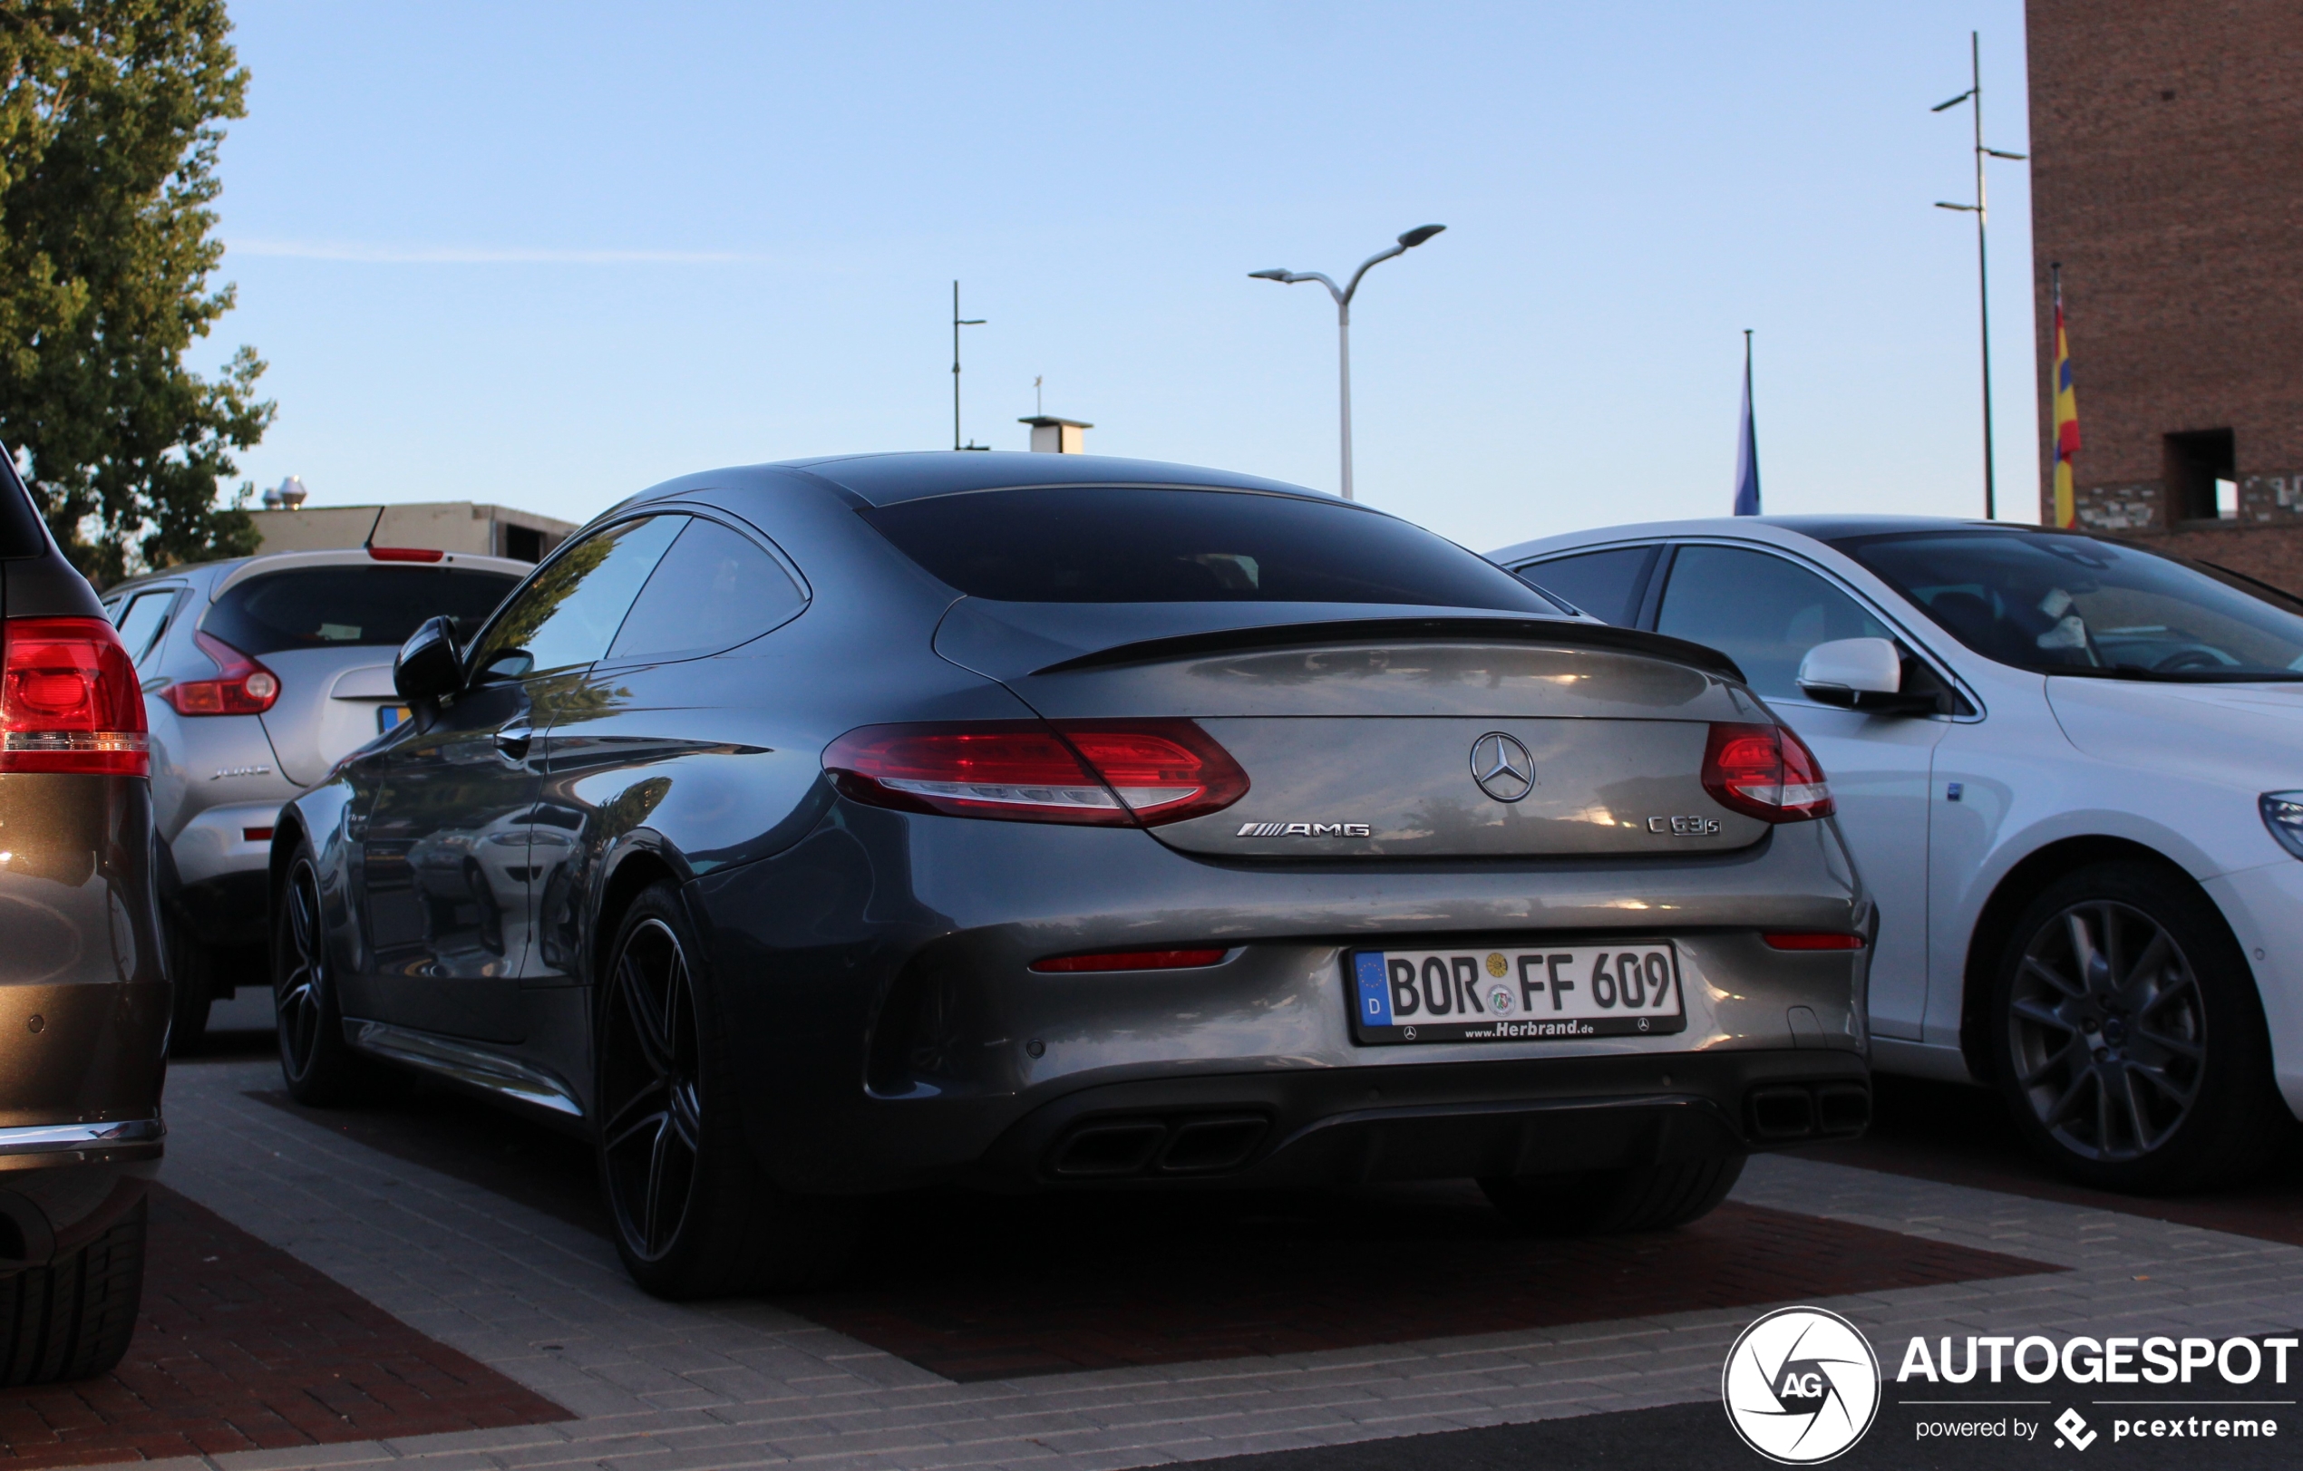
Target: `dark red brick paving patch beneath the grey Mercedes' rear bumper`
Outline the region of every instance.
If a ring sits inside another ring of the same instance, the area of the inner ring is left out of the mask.
[[[882,1291],[785,1298],[956,1381],[1308,1354],[1654,1312],[1748,1308],[2061,1271],[1872,1227],[1725,1204],[1693,1227],[1596,1241],[1237,1241],[1156,1259],[1020,1262]]]

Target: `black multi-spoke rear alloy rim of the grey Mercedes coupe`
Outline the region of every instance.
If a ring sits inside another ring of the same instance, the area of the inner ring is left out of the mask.
[[[696,992],[672,928],[645,916],[608,976],[601,1036],[601,1172],[629,1250],[661,1262],[696,1202],[702,1153]]]

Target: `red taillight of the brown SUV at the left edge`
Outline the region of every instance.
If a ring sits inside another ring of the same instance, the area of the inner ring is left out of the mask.
[[[0,628],[0,771],[152,773],[136,668],[108,622],[18,617]]]

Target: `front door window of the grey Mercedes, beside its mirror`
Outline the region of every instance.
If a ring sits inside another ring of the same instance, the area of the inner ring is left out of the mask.
[[[596,663],[686,520],[622,520],[567,548],[481,635],[472,654],[474,679],[525,679]]]

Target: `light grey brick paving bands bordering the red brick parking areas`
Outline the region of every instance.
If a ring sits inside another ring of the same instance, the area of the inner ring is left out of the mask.
[[[573,1418],[210,1457],[221,1471],[387,1459],[424,1471],[1145,1466],[1702,1402],[1753,1314],[1674,1308],[953,1384],[774,1305],[656,1303],[594,1234],[244,1096],[274,1077],[260,1064],[180,1070],[166,1179]],[[2059,1268],[1824,1298],[1875,1342],[2080,1326],[2225,1335],[2303,1321],[2303,1250],[2285,1243],[1794,1158],[1755,1160],[1736,1199]],[[921,1250],[935,1250],[933,1229],[921,1220]]]

